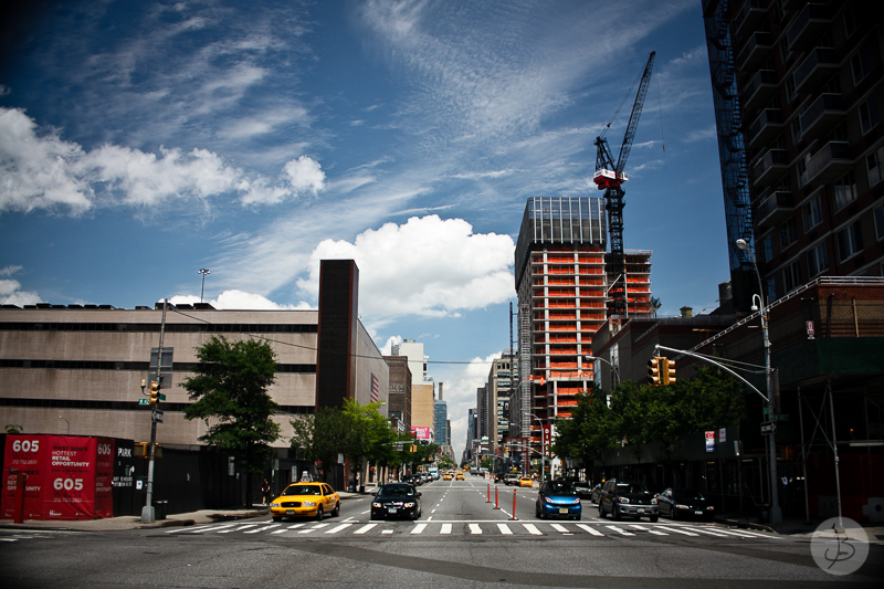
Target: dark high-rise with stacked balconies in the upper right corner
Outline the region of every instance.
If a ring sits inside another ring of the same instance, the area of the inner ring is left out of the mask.
[[[727,128],[741,132],[751,208],[740,236],[765,296],[821,275],[884,275],[881,4],[704,0],[703,10],[716,96],[734,75],[716,120],[719,144]]]

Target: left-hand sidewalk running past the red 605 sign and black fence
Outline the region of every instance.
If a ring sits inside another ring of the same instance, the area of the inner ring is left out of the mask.
[[[366,488],[366,495],[368,494]],[[339,491],[341,501],[361,496],[359,493],[348,493]],[[263,505],[250,507],[230,507],[227,509],[200,509],[198,512],[185,514],[171,514],[166,519],[158,519],[152,524],[143,524],[140,516],[122,515],[119,517],[107,517],[104,519],[84,520],[39,520],[25,519],[22,524],[15,524],[11,519],[0,519],[0,528],[4,529],[55,529],[73,532],[117,532],[124,529],[156,529],[176,526],[198,526],[201,524],[213,524],[217,522],[228,522],[231,519],[246,519],[250,517],[261,517],[270,515],[270,509]]]

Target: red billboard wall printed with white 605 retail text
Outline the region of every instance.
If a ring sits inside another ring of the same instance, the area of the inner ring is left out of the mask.
[[[114,440],[75,435],[7,435],[2,517],[12,518],[15,475],[28,476],[25,519],[113,517]]]

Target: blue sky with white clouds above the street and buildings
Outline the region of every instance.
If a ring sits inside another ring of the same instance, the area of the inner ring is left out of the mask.
[[[315,307],[318,261],[352,257],[460,452],[526,200],[601,196],[593,140],[651,51],[624,245],[663,316],[729,278],[699,0],[36,4],[0,25],[2,303],[198,301],[206,267],[219,308]]]

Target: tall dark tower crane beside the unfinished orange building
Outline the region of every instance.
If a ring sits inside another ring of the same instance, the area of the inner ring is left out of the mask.
[[[651,82],[651,70],[654,66],[655,55],[656,52],[652,51],[651,56],[648,57],[648,64],[644,66],[644,72],[639,83],[639,92],[635,95],[635,103],[632,105],[632,114],[629,116],[627,133],[623,136],[623,145],[620,146],[617,165],[613,162],[611,151],[608,148],[608,140],[604,138],[604,134],[611,127],[611,124],[609,123],[602,134],[596,138],[598,151],[596,155],[596,175],[592,177],[592,181],[596,182],[599,190],[604,190],[604,210],[608,211],[608,235],[611,241],[608,275],[614,277],[608,294],[613,302],[611,308],[613,315],[624,315],[627,313],[627,264],[623,254],[623,196],[625,192],[623,191],[623,182],[629,178],[623,169],[627,167],[627,159],[632,149],[632,140],[635,138],[635,129],[639,127],[639,118],[642,116],[642,107],[644,106],[644,97],[648,95],[648,85]],[[631,91],[632,88],[630,88]],[[620,108],[617,112],[619,113]],[[617,113],[614,113],[614,117],[617,117]]]

